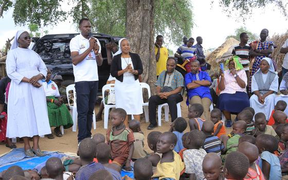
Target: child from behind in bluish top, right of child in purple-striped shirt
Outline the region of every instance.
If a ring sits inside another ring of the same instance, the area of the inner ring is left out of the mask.
[[[112,174],[114,179],[121,180],[121,175],[119,173],[121,171],[120,167],[114,163],[109,164],[110,154],[110,147],[105,142],[101,142],[97,145],[96,157],[99,163],[101,163],[104,168]]]

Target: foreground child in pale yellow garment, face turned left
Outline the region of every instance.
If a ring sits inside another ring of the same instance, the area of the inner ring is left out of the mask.
[[[165,132],[160,135],[157,141],[157,152],[162,153],[162,157],[157,164],[156,172],[152,177],[156,177],[158,179],[179,179],[185,166],[181,160],[181,157],[175,151],[173,151],[176,143],[177,137],[175,134]]]

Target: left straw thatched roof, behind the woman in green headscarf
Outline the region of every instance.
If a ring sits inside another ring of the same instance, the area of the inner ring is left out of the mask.
[[[234,38],[228,38],[221,46],[211,52],[206,58],[207,62],[211,65],[211,70],[218,71],[219,62],[231,58],[233,46],[239,43],[240,42]]]

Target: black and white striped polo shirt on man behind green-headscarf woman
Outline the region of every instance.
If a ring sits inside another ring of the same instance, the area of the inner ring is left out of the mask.
[[[244,47],[241,47],[240,45],[235,45],[233,47],[232,54],[241,58],[242,65],[249,66],[250,49],[251,46],[249,46],[249,44],[246,44]],[[244,70],[249,70],[249,67],[244,67]]]

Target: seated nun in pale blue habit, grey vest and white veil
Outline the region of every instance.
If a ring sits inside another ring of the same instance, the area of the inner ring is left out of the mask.
[[[263,58],[260,68],[252,77],[250,107],[256,113],[264,113],[269,119],[274,110],[275,93],[278,92],[278,76],[275,73],[273,62],[270,58]]]

